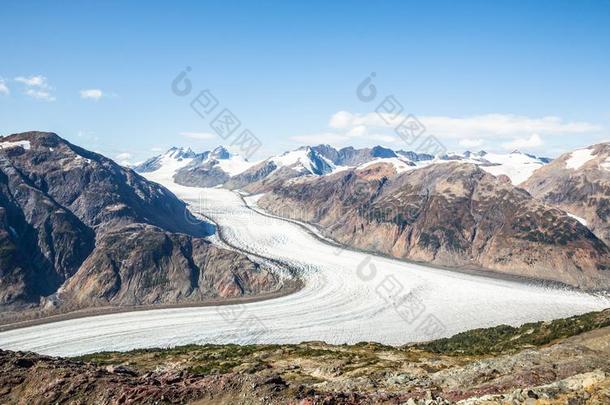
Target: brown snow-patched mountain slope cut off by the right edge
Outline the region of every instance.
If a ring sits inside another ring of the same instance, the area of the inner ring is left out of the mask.
[[[610,143],[566,153],[521,185],[534,197],[583,218],[610,245]]]

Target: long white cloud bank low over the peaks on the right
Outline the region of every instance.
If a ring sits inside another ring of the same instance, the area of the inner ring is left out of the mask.
[[[339,111],[329,121],[332,128],[349,129],[357,126],[367,128],[393,128],[406,115],[353,114]],[[585,134],[599,132],[603,128],[589,122],[565,122],[559,117],[532,118],[513,114],[486,114],[472,117],[421,116],[419,120],[430,134],[448,138],[510,138],[537,134]]]

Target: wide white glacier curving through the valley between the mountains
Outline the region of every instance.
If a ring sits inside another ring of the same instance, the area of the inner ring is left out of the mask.
[[[159,181],[218,224],[231,245],[275,259],[304,281],[281,298],[218,307],[102,315],[0,334],[0,347],[51,355],[187,343],[400,345],[498,324],[519,325],[610,307],[601,297],[467,275],[342,250],[302,226],[266,216],[237,193],[183,187],[170,170]]]

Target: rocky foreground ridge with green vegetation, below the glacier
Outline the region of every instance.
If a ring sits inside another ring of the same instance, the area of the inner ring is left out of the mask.
[[[402,348],[191,345],[72,360],[0,351],[0,402],[606,404],[608,325],[610,310]]]

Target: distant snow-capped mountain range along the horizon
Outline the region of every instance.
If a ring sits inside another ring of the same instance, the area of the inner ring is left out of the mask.
[[[534,170],[551,159],[514,151],[494,154],[485,151],[432,156],[425,153],[375,146],[335,149],[329,145],[304,146],[259,162],[247,162],[219,146],[213,151],[195,153],[190,148],[171,148],[136,166],[140,173],[175,170],[174,180],[186,186],[214,187],[264,192],[284,181],[301,176],[325,176],[368,164],[384,163],[401,173],[436,163],[459,161],[474,163],[494,175],[506,175],[514,184],[527,180]]]

